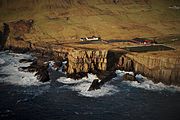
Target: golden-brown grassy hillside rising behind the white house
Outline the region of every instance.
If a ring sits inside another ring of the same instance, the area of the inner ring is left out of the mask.
[[[180,34],[179,0],[1,0],[0,23],[34,19],[33,42]]]

